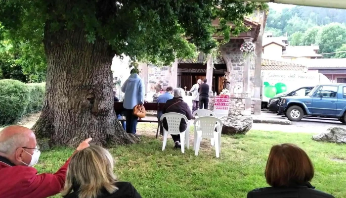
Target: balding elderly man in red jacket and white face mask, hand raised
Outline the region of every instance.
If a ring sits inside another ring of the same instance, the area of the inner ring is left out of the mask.
[[[91,138],[78,150],[89,147]],[[47,198],[64,187],[70,160],[54,174],[37,174],[35,165],[40,147],[33,131],[22,126],[9,126],[0,131],[0,198]]]

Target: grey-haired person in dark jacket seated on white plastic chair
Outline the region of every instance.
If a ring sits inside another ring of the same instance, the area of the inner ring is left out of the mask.
[[[190,110],[189,105],[183,101],[182,96],[185,94],[185,91],[181,88],[177,88],[173,91],[173,99],[169,99],[167,100],[164,108],[162,109],[162,113],[180,113],[186,116],[186,118],[188,120],[191,120],[192,117],[192,113]],[[166,118],[164,118],[162,120],[162,125],[163,127],[168,130],[168,124],[167,124],[167,120]],[[180,122],[180,126],[179,126],[179,131],[183,132],[185,131],[187,128],[187,123],[185,122],[185,120],[181,120]],[[172,139],[175,143],[174,148],[181,148],[180,145],[180,136],[179,135],[171,135]]]

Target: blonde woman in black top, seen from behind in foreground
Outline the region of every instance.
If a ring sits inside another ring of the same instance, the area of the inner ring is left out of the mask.
[[[90,146],[71,157],[66,173],[64,198],[141,198],[128,182],[113,173],[112,155],[104,148]]]

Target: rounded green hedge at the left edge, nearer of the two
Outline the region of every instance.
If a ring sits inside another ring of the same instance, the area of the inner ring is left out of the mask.
[[[28,103],[27,85],[17,80],[0,80],[0,125],[12,124],[22,118]]]

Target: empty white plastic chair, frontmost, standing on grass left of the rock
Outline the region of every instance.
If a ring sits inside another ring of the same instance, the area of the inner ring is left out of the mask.
[[[196,125],[197,122],[199,122],[198,125]],[[222,121],[213,116],[203,116],[196,118],[196,120],[193,122],[193,125],[195,128],[195,138],[193,143],[195,155],[198,155],[202,138],[210,138],[211,140],[214,139],[216,157],[218,158],[221,151],[221,129],[223,126]]]

